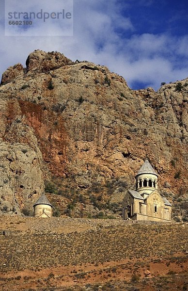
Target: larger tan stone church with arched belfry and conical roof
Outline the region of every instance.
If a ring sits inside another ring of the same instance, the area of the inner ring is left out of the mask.
[[[148,160],[135,178],[136,191],[128,190],[122,202],[123,219],[171,221],[172,205],[158,193],[158,174]]]

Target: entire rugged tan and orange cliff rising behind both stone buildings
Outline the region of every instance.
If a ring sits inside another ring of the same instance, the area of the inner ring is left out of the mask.
[[[35,50],[3,73],[0,100],[0,214],[31,210],[45,182],[62,215],[117,215],[148,158],[186,219],[188,79],[133,91],[105,66]]]

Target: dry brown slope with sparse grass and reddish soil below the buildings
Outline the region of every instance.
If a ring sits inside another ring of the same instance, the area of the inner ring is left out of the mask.
[[[2,291],[187,290],[188,224],[15,217],[0,223]]]

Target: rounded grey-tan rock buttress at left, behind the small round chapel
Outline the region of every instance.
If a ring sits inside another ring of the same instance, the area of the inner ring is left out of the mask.
[[[44,190],[36,152],[27,145],[1,142],[0,163],[0,215],[31,210]]]

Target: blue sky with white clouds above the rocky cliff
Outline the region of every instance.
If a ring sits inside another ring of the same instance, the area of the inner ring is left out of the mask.
[[[62,1],[46,0],[46,3],[52,12],[54,7],[62,8]],[[30,2],[24,1],[31,9]],[[32,0],[32,10],[38,2]],[[25,66],[27,56],[34,49],[57,50],[73,61],[107,65],[122,75],[132,89],[151,86],[157,90],[163,81],[188,77],[186,2],[74,0],[73,36],[5,36],[4,5],[0,0],[0,74],[16,63]],[[61,34],[58,22],[49,20],[46,25],[51,35]],[[35,33],[42,32],[43,27],[38,24]]]

